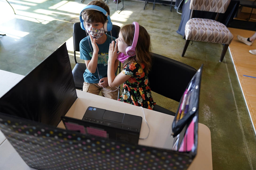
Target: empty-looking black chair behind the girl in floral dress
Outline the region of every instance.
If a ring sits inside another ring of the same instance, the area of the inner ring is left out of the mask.
[[[153,59],[153,65],[149,72],[151,90],[179,102],[197,70],[171,58],[155,53],[151,53],[151,55]],[[154,105],[153,110],[175,116],[174,112],[159,105]]]

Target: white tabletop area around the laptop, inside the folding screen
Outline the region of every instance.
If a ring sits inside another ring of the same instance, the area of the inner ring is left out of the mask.
[[[80,90],[77,90],[77,96],[78,99],[71,106],[66,116],[82,119],[87,107],[89,106],[107,109],[115,112],[133,114],[141,116],[143,118],[140,138],[145,138],[147,136],[149,128],[144,120],[142,108],[106,97],[83,92]],[[170,137],[172,133],[171,124],[173,122],[174,116],[166,116],[167,114],[145,108],[144,112],[146,120],[150,127],[150,135],[147,139],[140,139],[138,144],[171,149],[173,145],[173,138]],[[62,122],[58,127],[65,129],[65,126]]]

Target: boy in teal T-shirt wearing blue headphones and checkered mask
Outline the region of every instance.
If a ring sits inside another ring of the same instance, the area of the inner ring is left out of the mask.
[[[109,7],[102,0],[91,1],[80,13],[81,28],[89,34],[80,41],[80,58],[87,67],[83,91],[96,95],[101,91],[103,96],[117,100],[118,91],[109,87],[107,79],[109,44],[115,40],[105,34],[112,29],[109,14]],[[115,70],[117,67],[118,60]]]

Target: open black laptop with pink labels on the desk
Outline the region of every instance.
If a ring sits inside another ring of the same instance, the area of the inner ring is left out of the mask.
[[[88,107],[82,118],[61,117],[67,130],[138,144],[142,117]]]

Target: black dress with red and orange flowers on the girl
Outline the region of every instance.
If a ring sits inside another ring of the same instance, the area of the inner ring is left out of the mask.
[[[131,77],[123,83],[123,94],[118,100],[152,110],[155,102],[151,95],[148,75],[143,71],[144,67],[143,64],[130,62],[123,68],[122,73]]]

